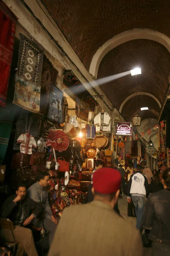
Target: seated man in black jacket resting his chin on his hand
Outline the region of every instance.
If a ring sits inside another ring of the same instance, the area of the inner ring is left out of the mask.
[[[34,214],[31,211],[34,210]],[[43,206],[30,198],[26,198],[26,185],[20,184],[16,195],[6,199],[1,208],[1,217],[9,218],[14,224],[14,237],[17,243],[16,256],[38,256],[35,248],[32,232],[26,228],[32,220],[43,211]],[[7,242],[13,242],[11,230],[1,229],[0,238]]]

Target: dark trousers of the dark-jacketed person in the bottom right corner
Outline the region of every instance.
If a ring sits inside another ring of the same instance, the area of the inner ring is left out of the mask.
[[[170,246],[163,243],[152,242],[152,256],[170,256]]]

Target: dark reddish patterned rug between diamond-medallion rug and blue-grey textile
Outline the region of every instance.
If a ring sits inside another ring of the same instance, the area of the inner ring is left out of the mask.
[[[41,97],[40,97],[40,113],[48,116],[48,108],[50,103],[50,95],[52,84],[56,84],[58,71],[54,69],[48,58],[43,58],[42,76],[41,76]]]

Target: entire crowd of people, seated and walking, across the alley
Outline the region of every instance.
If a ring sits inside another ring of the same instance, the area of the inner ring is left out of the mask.
[[[48,234],[49,256],[142,256],[146,238],[152,242],[152,256],[170,255],[170,168],[160,179],[156,170],[152,173],[141,165],[105,168],[102,160],[96,160],[86,204],[64,209],[59,223],[49,206],[48,182],[48,173],[40,173],[28,191],[20,184],[1,208],[1,217],[14,224],[16,256],[38,255],[34,227]],[[127,215],[136,216],[136,228],[119,211],[120,193],[127,195]],[[0,237],[13,239],[6,228]]]

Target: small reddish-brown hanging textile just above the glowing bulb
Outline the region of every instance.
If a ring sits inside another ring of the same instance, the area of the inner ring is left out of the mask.
[[[89,111],[88,103],[83,102],[82,100],[76,98],[76,115],[77,115],[77,117],[88,122],[88,111]]]

